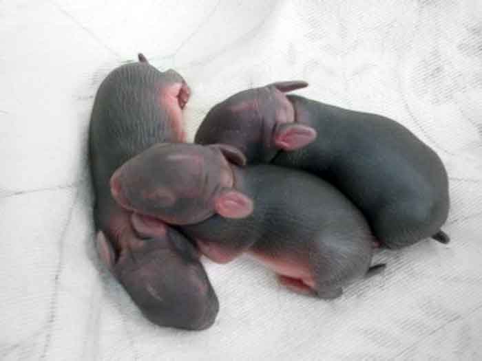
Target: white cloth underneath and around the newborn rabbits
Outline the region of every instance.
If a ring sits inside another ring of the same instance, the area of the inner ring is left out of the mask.
[[[216,324],[149,324],[94,251],[87,164],[96,89],[137,52],[187,79],[191,139],[275,80],[398,120],[446,164],[452,243],[381,252],[331,302],[206,262]],[[482,359],[480,0],[0,1],[0,155],[1,360]]]

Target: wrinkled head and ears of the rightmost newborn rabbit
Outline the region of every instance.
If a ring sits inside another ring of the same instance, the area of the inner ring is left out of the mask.
[[[240,91],[207,113],[195,142],[235,146],[250,163],[270,162],[280,149],[300,149],[315,140],[316,131],[296,121],[284,93],[307,86],[293,80]]]

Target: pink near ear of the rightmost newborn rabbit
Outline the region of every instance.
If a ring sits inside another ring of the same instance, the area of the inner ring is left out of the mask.
[[[284,151],[294,151],[303,148],[316,139],[315,129],[298,123],[277,124],[274,142]]]

